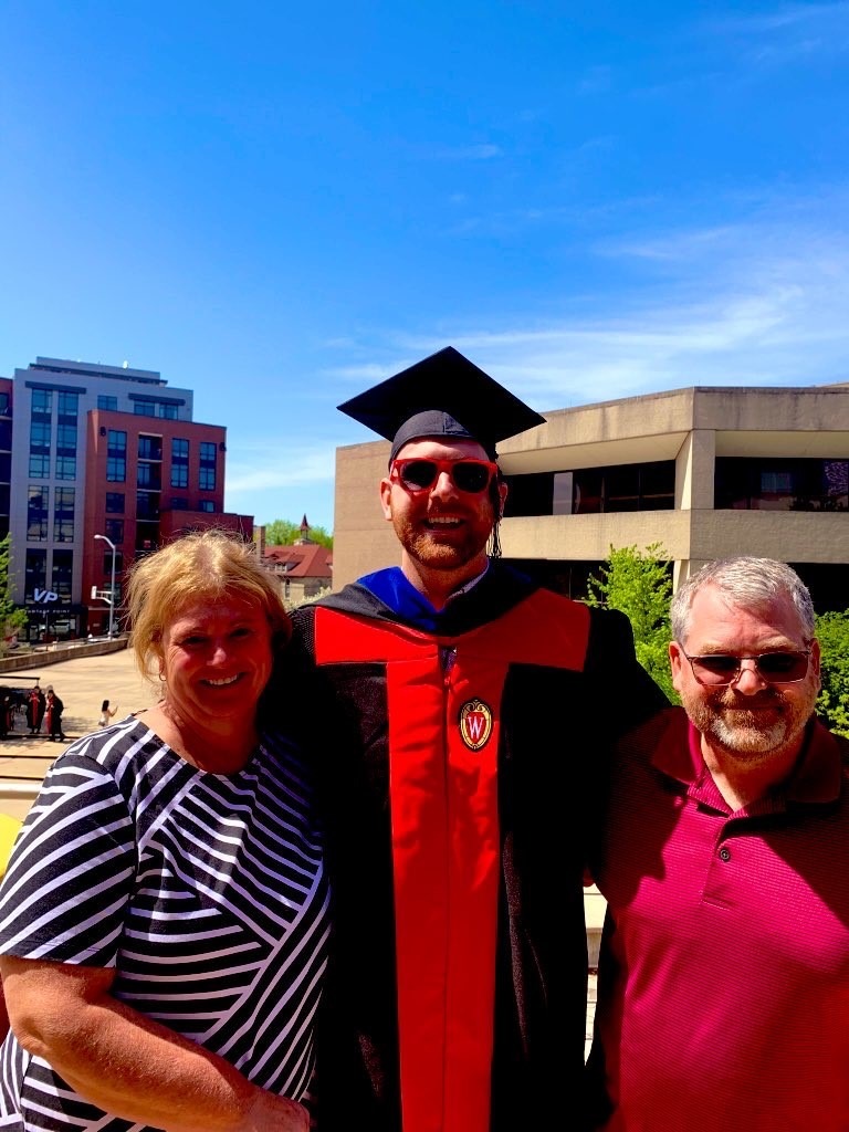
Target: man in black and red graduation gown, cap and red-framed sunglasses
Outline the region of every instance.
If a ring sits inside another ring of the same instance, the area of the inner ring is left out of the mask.
[[[401,565],[294,615],[336,895],[321,1127],[580,1127],[588,774],[666,700],[625,617],[497,560],[496,445],[542,417],[453,348],[340,408],[392,441]]]

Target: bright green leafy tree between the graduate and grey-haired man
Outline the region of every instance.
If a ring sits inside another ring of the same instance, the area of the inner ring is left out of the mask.
[[[601,576],[591,575],[586,601],[626,615],[634,629],[637,660],[672,703],[680,703],[669,670],[669,602],[672,597],[670,560],[659,542],[644,550],[610,547]]]

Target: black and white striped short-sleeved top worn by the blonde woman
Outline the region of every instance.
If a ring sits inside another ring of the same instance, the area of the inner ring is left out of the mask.
[[[140,720],[49,771],[0,890],[0,951],[114,967],[117,998],[265,1089],[303,1097],[327,962],[328,884],[298,748],[189,765]],[[10,1034],[0,1127],[140,1132],[85,1103]]]

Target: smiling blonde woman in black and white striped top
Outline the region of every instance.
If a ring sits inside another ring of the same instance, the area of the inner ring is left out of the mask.
[[[129,611],[162,700],[57,760],[0,891],[0,1125],[306,1132],[328,884],[260,710],[277,583],[206,531],[136,564]]]

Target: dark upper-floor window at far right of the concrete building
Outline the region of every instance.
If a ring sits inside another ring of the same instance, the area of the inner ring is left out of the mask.
[[[720,456],[719,511],[849,511],[849,461]]]

